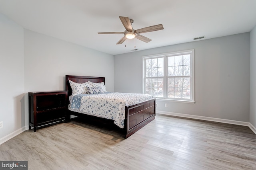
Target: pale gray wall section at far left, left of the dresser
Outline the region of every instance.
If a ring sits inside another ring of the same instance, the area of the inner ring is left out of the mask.
[[[23,28],[0,14],[0,139],[25,126],[23,47]]]

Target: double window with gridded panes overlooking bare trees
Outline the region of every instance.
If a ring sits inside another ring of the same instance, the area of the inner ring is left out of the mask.
[[[194,102],[194,50],[142,57],[143,92]]]

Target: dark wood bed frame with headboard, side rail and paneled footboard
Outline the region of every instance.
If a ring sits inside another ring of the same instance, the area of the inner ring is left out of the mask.
[[[76,83],[85,83],[85,82],[105,82],[104,77],[91,77],[91,76],[68,76],[66,75],[66,90],[68,90],[68,96],[72,95],[72,89],[70,87],[69,81],[71,80]],[[68,100],[69,103],[69,100]],[[74,111],[67,111],[66,121],[70,121],[70,115],[75,115],[78,117],[94,117],[94,119],[104,119],[100,117],[95,117],[92,115],[86,115],[83,113],[78,113]],[[154,120],[156,116],[156,99],[146,100],[144,102],[126,106],[125,107],[125,120],[124,120],[124,129],[121,129],[124,138],[128,138],[130,135],[134,134],[136,131],[144,127],[150,121]],[[104,119],[106,120],[106,119]],[[112,125],[114,120],[110,120]],[[108,122],[108,121],[107,121]],[[110,127],[112,127],[110,125]],[[117,126],[116,126],[117,127]],[[119,128],[119,127],[118,127]]]

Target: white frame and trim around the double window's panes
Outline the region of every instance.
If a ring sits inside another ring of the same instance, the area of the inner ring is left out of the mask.
[[[191,54],[190,59],[190,99],[184,99],[184,98],[167,98],[167,84],[168,84],[168,62],[167,57],[170,57],[172,55],[184,55],[184,54]],[[184,103],[195,103],[195,94],[194,94],[194,49],[190,50],[184,50],[184,51],[176,51],[176,52],[170,52],[170,53],[163,53],[163,54],[156,54],[156,55],[147,55],[142,56],[142,93],[146,93],[146,67],[145,67],[145,61],[146,59],[153,59],[153,58],[159,58],[164,57],[164,97],[156,97],[157,100],[161,101],[173,101],[173,102],[184,102]]]

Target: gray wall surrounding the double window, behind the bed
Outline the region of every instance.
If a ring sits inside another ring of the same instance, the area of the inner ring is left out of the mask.
[[[142,92],[142,56],[188,49],[195,50],[195,104],[157,100],[156,111],[249,122],[250,33],[115,55],[115,92]]]

